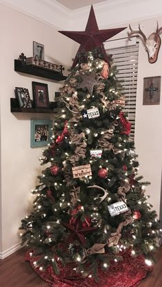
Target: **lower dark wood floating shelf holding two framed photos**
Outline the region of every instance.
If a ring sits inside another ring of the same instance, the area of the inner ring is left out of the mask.
[[[49,109],[36,109],[34,108],[34,101],[32,101],[32,108],[20,108],[19,101],[16,98],[10,98],[11,112],[27,112],[27,113],[39,113],[39,114],[54,114],[57,108],[56,101],[49,102]]]

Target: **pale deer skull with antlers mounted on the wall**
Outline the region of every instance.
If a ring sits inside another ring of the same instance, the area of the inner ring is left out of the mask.
[[[159,36],[161,31],[162,31],[162,27],[159,28],[159,25],[157,22],[156,32],[150,34],[148,38],[146,38],[146,35],[141,31],[140,25],[139,25],[138,30],[133,30],[130,27],[130,32],[128,32],[128,40],[131,40],[130,37],[132,37],[132,35],[139,36],[139,38],[142,40],[143,45],[145,46],[146,51],[148,52],[148,62],[150,64],[153,64],[154,62],[157,61],[157,56],[159,53],[159,49],[161,47],[161,38]]]

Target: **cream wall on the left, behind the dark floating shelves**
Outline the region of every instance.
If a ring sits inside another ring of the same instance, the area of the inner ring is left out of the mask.
[[[21,219],[27,214],[32,202],[30,190],[35,187],[40,171],[38,158],[42,149],[30,148],[30,119],[54,119],[49,114],[12,114],[10,97],[16,86],[28,88],[32,98],[32,81],[48,84],[49,99],[54,101],[55,92],[63,82],[20,75],[14,72],[14,59],[20,53],[32,56],[33,40],[45,45],[45,60],[71,66],[76,53],[75,42],[39,21],[0,4],[1,35],[1,224],[0,255],[14,251],[20,239],[17,236]]]

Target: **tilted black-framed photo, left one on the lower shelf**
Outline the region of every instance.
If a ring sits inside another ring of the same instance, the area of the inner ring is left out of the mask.
[[[27,88],[16,87],[15,96],[19,101],[20,108],[32,108],[32,101],[30,99],[30,93]]]

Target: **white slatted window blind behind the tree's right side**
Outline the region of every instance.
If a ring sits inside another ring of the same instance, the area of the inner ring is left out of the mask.
[[[113,55],[113,65],[117,66],[117,79],[122,80],[126,105],[124,112],[128,113],[131,123],[130,138],[135,136],[135,110],[137,95],[137,71],[139,45],[106,49],[106,53]]]

